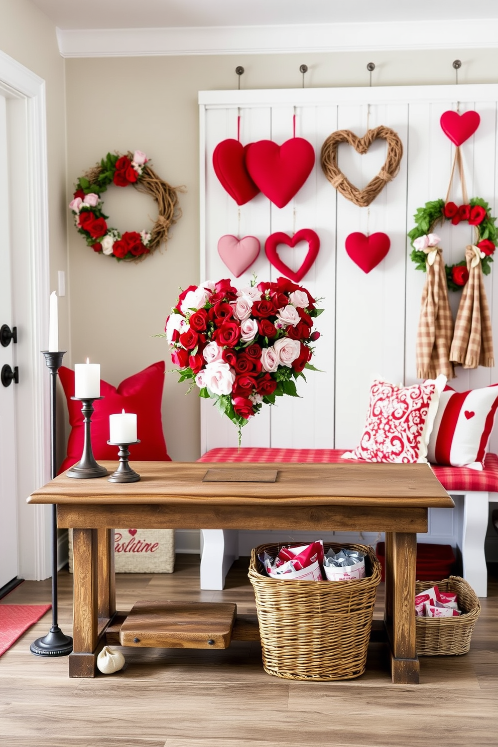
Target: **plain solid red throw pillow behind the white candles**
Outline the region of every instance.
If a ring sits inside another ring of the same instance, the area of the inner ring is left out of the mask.
[[[103,400],[95,400],[92,415],[92,450],[93,456],[99,459],[118,460],[117,447],[110,446],[109,415],[116,412],[135,412],[137,414],[137,438],[140,444],[130,448],[131,461],[140,459],[152,462],[171,462],[166,451],[163,423],[161,420],[161,399],[164,385],[164,361],[152,364],[139,373],[134,373],[122,381],[116,388],[106,381],[100,382],[100,394]],[[66,395],[71,433],[67,442],[67,456],[60,472],[69,469],[79,462],[83,453],[84,425],[81,413],[81,402],[72,400],[75,394],[75,372],[72,368],[59,368],[60,383]]]

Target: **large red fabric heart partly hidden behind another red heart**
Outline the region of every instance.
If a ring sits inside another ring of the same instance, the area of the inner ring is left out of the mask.
[[[248,145],[244,148],[239,140],[228,138],[218,143],[213,153],[214,173],[237,205],[245,205],[259,192],[246,169],[245,155],[248,148]]]

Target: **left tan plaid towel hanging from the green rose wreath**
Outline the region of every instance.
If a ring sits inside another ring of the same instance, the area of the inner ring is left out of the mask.
[[[440,373],[452,379],[453,364],[449,347],[453,335],[453,317],[449,308],[446,273],[441,247],[429,247],[426,285],[422,292],[417,329],[417,376],[435,379]]]

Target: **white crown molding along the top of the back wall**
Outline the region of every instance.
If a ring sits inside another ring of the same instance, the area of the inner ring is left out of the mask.
[[[496,49],[498,19],[193,28],[57,28],[71,57]]]

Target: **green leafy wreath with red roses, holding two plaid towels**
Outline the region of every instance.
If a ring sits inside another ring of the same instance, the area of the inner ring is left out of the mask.
[[[408,237],[411,239],[411,246],[414,247],[410,255],[411,260],[414,261],[417,270],[426,271],[427,253],[420,247],[423,244],[435,247],[439,241],[437,236],[431,241],[435,226],[441,225],[445,220],[451,220],[452,226],[467,221],[469,226],[474,226],[475,229],[474,243],[480,252],[482,272],[489,275],[492,255],[498,244],[498,228],[495,225],[497,219],[491,216],[491,208],[484,199],[474,197],[466,205],[460,206],[455,202],[436,199],[426,202],[423,208],[417,208],[414,219],[417,225],[411,229]],[[417,239],[422,241],[417,242]],[[469,278],[465,259],[456,264],[445,264],[444,269],[449,290],[460,291]]]

